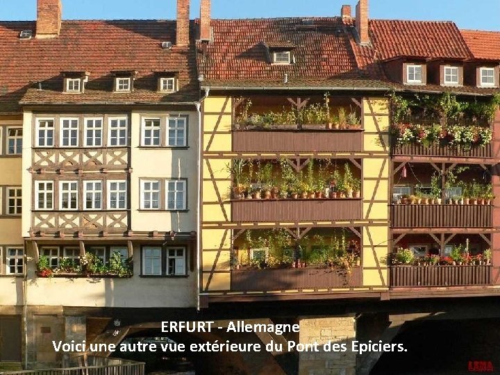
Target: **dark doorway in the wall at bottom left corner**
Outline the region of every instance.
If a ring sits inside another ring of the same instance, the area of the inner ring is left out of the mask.
[[[0,316],[0,362],[21,362],[21,317]]]

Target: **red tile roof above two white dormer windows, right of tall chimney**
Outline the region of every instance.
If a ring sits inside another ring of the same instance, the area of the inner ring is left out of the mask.
[[[379,58],[469,58],[460,30],[453,22],[372,19],[370,38]]]

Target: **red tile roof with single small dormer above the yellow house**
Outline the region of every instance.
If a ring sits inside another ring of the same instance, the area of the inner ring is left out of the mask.
[[[199,53],[199,69],[206,81],[281,81],[301,79],[381,78],[373,54],[358,61],[353,53],[351,26],[340,17],[213,19],[214,42],[206,56]],[[295,63],[272,65],[267,45],[294,46]]]

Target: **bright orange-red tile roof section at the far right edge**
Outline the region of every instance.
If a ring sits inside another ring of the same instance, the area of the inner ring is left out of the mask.
[[[480,60],[500,60],[500,32],[460,30],[472,53]]]

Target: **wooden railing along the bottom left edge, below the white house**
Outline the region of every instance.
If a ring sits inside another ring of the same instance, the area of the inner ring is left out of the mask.
[[[144,375],[144,363],[103,358],[107,365],[0,372],[0,375]]]

